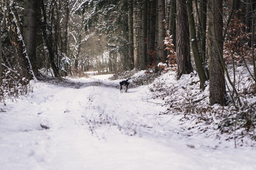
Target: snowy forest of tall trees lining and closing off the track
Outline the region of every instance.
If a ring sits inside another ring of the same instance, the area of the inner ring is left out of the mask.
[[[196,71],[210,106],[233,105],[253,128],[255,110],[243,113],[240,98],[256,94],[255,8],[254,0],[1,0],[1,101],[46,77]]]

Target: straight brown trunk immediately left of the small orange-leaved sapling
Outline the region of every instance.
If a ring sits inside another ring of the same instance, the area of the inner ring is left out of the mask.
[[[157,0],[156,11],[156,71],[158,70],[157,64],[159,62],[166,62],[167,53],[164,45],[164,38],[166,36],[166,30],[164,28],[165,19],[165,0]]]

